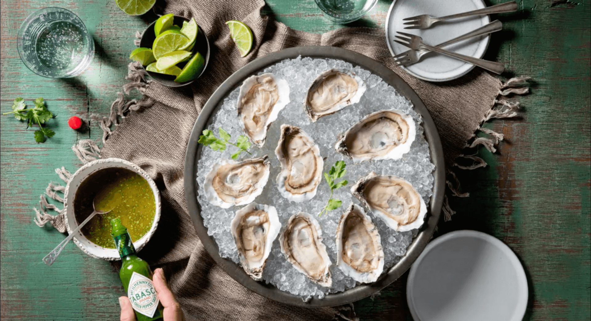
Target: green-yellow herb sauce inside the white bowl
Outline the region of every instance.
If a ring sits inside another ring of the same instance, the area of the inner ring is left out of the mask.
[[[74,215],[82,222],[97,209],[113,208],[96,215],[83,228],[82,234],[92,243],[104,248],[115,248],[111,237],[111,220],[120,218],[132,241],[144,236],[152,226],[156,212],[154,194],[148,182],[138,173],[124,168],[105,168],[89,175],[74,196]]]

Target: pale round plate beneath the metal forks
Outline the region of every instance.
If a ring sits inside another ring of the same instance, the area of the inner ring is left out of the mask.
[[[485,8],[482,0],[395,0],[392,2],[386,17],[386,42],[392,55],[407,51],[404,45],[394,42],[396,31],[408,34],[419,35],[427,44],[438,45],[441,42],[456,38],[466,32],[480,28],[491,22],[488,15],[452,19],[439,22],[426,30],[404,29],[402,19],[414,17],[421,14],[428,14],[431,17],[443,17],[446,15],[459,14],[460,12],[472,11]],[[444,49],[456,53],[471,55],[482,58],[488,47],[489,36],[473,38],[449,45]],[[446,55],[428,53],[423,59],[408,67],[402,67],[414,77],[427,81],[448,81],[464,76],[474,65],[465,63]]]

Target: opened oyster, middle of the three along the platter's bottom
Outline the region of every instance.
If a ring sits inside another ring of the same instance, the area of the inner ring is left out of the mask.
[[[322,243],[322,228],[316,218],[297,212],[279,237],[281,253],[296,270],[321,286],[330,287],[330,258]]]

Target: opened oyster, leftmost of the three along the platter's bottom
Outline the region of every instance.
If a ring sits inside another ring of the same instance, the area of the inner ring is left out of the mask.
[[[275,207],[252,202],[236,211],[230,231],[246,274],[260,280],[281,223]]]

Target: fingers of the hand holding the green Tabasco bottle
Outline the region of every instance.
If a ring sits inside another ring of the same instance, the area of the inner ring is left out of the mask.
[[[154,282],[157,297],[164,307],[164,321],[183,321],[183,310],[181,310],[180,304],[174,298],[174,294],[168,289],[164,271],[161,268],[154,270],[152,282]],[[119,305],[121,306],[121,321],[136,321],[134,308],[131,306],[128,297],[119,297]]]

